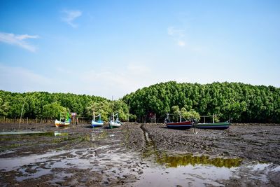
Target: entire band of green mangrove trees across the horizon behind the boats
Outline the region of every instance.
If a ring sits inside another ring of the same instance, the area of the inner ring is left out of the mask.
[[[0,116],[58,118],[61,112],[76,112],[92,118],[93,110],[109,120],[119,113],[120,120],[148,121],[155,113],[162,122],[167,113],[185,118],[216,114],[218,120],[232,118],[237,123],[280,123],[280,88],[244,83],[158,83],[110,101],[103,97],[71,93],[7,92],[0,90]],[[176,120],[176,117],[173,117]]]

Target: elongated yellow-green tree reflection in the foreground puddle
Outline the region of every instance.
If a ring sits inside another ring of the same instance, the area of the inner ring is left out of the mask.
[[[156,158],[156,162],[167,167],[179,167],[186,165],[214,165],[216,167],[238,167],[241,165],[240,158],[209,158],[208,155],[167,155],[163,153]]]

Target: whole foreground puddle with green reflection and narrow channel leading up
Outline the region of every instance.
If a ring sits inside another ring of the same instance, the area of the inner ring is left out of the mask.
[[[150,162],[151,167],[144,169],[144,174],[133,186],[225,186],[226,181],[233,180],[230,183],[235,183],[235,180],[241,179],[262,186],[269,183],[269,174],[280,172],[279,165],[260,162],[245,164],[241,158],[168,155],[159,151],[148,133],[143,132],[146,149],[141,156]]]

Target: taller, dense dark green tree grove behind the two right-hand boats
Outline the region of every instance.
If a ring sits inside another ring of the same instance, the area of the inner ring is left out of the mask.
[[[130,113],[138,119],[154,112],[163,120],[166,113],[181,111],[188,118],[215,113],[221,121],[233,118],[239,123],[280,123],[280,88],[273,86],[169,81],[125,95],[123,101],[130,104]]]

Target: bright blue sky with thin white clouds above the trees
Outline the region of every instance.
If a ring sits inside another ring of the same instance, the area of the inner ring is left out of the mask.
[[[279,88],[280,1],[0,1],[0,90],[118,99],[167,81]]]

